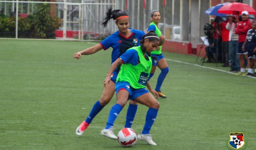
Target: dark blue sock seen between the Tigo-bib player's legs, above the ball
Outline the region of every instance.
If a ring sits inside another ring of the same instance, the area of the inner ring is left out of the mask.
[[[126,114],[126,121],[125,121],[125,127],[131,128],[131,125],[133,123],[134,117],[137,112],[138,105],[129,104],[127,114]]]

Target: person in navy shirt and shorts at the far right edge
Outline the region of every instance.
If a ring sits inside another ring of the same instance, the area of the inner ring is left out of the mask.
[[[246,51],[244,52],[246,57],[248,57],[248,73],[245,75],[253,75],[253,65],[254,61],[256,59],[254,50],[256,51],[256,21],[252,22],[252,29],[247,31],[246,40],[244,41],[244,44],[242,46],[242,50]]]

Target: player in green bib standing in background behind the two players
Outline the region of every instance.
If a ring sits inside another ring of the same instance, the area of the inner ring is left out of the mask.
[[[161,31],[158,29],[158,23],[160,22],[160,19],[161,19],[160,13],[157,10],[154,10],[151,12],[150,15],[151,15],[151,24],[149,25],[146,33],[148,33],[148,31],[154,30],[156,34],[159,36],[160,45],[162,45],[162,43],[165,41],[165,36],[163,36]],[[161,73],[157,78],[155,90],[157,91],[160,97],[166,98],[166,95],[164,95],[161,92],[161,86],[162,86],[163,80],[165,79],[167,73],[169,72],[169,68],[165,60],[165,57],[162,55],[161,50],[162,50],[162,46],[159,46],[157,50],[151,52],[151,55],[154,56],[152,58],[156,58],[156,59],[152,59],[152,70],[150,72],[150,78],[154,75],[156,71],[156,66],[158,66],[159,69],[161,70]]]

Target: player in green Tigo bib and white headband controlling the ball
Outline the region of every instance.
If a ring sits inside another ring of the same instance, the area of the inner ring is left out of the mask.
[[[156,119],[160,104],[144,87],[146,84],[148,85],[149,74],[152,67],[150,52],[157,48],[159,38],[154,31],[150,31],[142,37],[140,43],[140,46],[128,49],[113,62],[106,75],[104,87],[108,88],[111,84],[111,74],[118,65],[123,63],[115,85],[117,102],[109,112],[109,119],[105,128],[101,131],[101,135],[111,139],[117,139],[113,133],[114,121],[127,103],[127,100],[130,99],[149,107],[146,114],[145,125],[142,132],[138,134],[137,137],[147,144],[156,145],[149,132]],[[156,95],[157,92],[155,92],[155,96]]]

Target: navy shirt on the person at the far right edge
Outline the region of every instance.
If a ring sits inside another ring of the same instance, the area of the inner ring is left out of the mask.
[[[253,51],[253,49],[256,46],[256,31],[255,30],[248,30],[247,36],[246,36],[246,44],[244,46],[244,49],[246,51]]]

